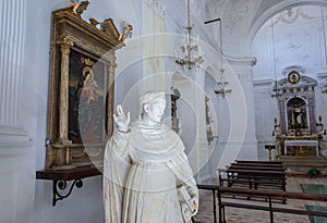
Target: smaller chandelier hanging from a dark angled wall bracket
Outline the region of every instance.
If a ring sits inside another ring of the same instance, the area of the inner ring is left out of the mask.
[[[231,89],[226,89],[226,86],[228,85],[228,82],[225,82],[223,78],[223,63],[222,63],[222,34],[221,34],[221,18],[218,17],[216,20],[210,20],[204,22],[204,24],[213,23],[213,22],[219,22],[219,54],[220,54],[220,79],[217,83],[218,84],[218,90],[215,90],[217,95],[221,95],[222,97],[226,96],[226,94],[231,92]]]

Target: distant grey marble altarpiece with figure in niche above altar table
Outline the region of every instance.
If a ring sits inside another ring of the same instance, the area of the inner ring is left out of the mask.
[[[288,73],[274,91],[278,95],[279,123],[274,132],[279,144],[277,158],[319,157],[322,133],[315,113],[315,86],[317,82],[298,71]]]

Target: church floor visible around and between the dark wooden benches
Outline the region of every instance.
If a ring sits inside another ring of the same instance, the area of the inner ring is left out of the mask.
[[[301,191],[301,184],[318,184],[318,185],[327,185],[327,178],[307,178],[307,177],[288,177],[287,179],[287,191]],[[194,218],[196,222],[199,223],[213,223],[214,214],[213,214],[213,194],[209,190],[199,190],[199,211],[197,215]],[[223,198],[231,199],[231,198]],[[239,202],[252,202],[258,203],[259,201],[249,201],[245,199],[232,199],[234,202],[238,200]],[[261,201],[263,205],[267,205],[268,202]],[[315,201],[301,201],[301,200],[288,200],[287,205],[282,203],[274,203],[274,206],[282,206],[282,208],[296,208],[305,210],[305,205],[310,206],[326,206],[324,202],[315,202]],[[219,211],[217,206],[217,222],[219,222]],[[227,223],[269,223],[269,212],[259,211],[259,210],[249,210],[249,209],[240,209],[240,208],[226,208],[226,220]],[[298,214],[289,214],[289,213],[274,213],[275,223],[311,223],[308,216],[306,215],[298,215]],[[327,219],[324,219],[320,222],[326,222]]]

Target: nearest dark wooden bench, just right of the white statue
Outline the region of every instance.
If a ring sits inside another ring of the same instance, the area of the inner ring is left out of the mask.
[[[263,206],[263,205],[250,205],[250,203],[223,201],[222,198],[226,195],[241,195],[246,197],[256,196],[256,197],[265,198],[269,202],[268,206]],[[226,213],[225,213],[226,207],[269,211],[270,223],[274,223],[274,212],[302,214],[302,215],[316,215],[316,216],[327,218],[327,213],[323,211],[310,211],[310,210],[299,210],[293,208],[272,207],[272,199],[284,199],[284,200],[298,199],[298,200],[327,202],[327,195],[219,187],[218,188],[219,223],[226,223]]]

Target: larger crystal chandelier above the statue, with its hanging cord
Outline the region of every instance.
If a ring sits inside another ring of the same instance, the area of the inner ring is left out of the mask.
[[[186,29],[186,42],[181,47],[181,52],[175,51],[174,62],[181,65],[183,70],[192,70],[195,66],[199,66],[203,63],[201,55],[201,49],[198,46],[198,38],[194,41],[191,37],[192,26],[190,22],[190,0],[187,0],[187,26]]]

